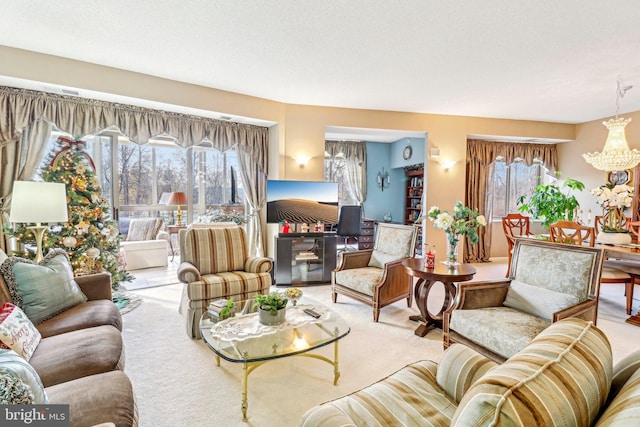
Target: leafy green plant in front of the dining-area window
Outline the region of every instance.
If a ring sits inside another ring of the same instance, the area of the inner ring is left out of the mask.
[[[527,200],[526,196],[518,198],[518,210],[531,214],[533,219],[542,219],[542,225],[549,227],[562,220],[573,220],[576,209],[580,206],[572,191],[584,190],[584,184],[575,179],[567,179],[562,186],[558,184],[539,184]]]

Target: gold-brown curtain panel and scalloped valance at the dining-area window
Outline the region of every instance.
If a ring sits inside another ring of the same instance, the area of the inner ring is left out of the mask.
[[[487,226],[478,229],[479,241],[475,245],[465,239],[465,262],[489,262],[492,233],[491,179],[497,157],[503,157],[507,165],[516,159],[522,159],[527,165],[532,165],[534,159],[538,159],[551,174],[558,168],[556,144],[467,140],[465,205],[484,214],[487,218]]]

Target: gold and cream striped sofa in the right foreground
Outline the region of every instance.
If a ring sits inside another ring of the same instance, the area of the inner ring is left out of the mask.
[[[308,410],[303,427],[640,425],[640,351],[612,367],[593,322],[561,320],[501,365],[454,344]]]

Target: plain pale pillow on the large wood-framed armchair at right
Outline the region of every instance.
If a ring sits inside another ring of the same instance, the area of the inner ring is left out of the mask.
[[[578,302],[578,297],[575,295],[512,280],[503,305],[551,321],[553,313]]]

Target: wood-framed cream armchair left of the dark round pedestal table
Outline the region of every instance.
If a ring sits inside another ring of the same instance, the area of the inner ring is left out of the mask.
[[[373,321],[380,309],[406,298],[413,300],[411,277],[402,261],[413,257],[418,229],[413,225],[378,224],[372,250],[342,253],[340,265],[331,273],[334,303],[343,294],[373,307]]]

